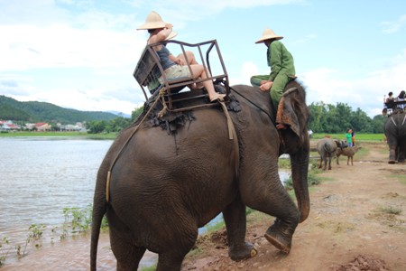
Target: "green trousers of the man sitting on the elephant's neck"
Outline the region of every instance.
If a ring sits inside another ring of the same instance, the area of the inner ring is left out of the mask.
[[[262,80],[268,80],[269,75],[254,75],[251,78],[251,85],[253,87],[260,87]],[[286,74],[278,74],[276,78],[273,80],[272,88],[271,88],[271,99],[274,111],[278,110],[279,101],[281,100],[281,96],[283,95],[283,90],[285,89],[286,85],[291,81],[291,77]]]

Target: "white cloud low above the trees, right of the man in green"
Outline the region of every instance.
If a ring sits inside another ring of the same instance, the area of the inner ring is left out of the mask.
[[[383,97],[389,91],[398,95],[406,89],[406,50],[398,55],[386,70],[374,70],[359,79],[346,79],[337,70],[319,68],[300,76],[307,89],[307,102],[323,101],[336,105],[346,103],[356,110],[361,108],[369,117],[382,112]]]

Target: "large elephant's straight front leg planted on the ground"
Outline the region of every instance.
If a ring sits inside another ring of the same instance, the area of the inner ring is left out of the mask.
[[[245,242],[245,204],[239,196],[223,210],[223,218],[227,229],[228,255],[231,259],[237,261],[254,257],[257,253],[254,245]]]

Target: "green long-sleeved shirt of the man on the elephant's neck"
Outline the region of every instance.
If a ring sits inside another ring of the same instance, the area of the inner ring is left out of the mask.
[[[296,74],[293,57],[280,41],[273,41],[268,47],[268,66],[271,67],[269,80],[273,81],[281,73],[289,77]]]

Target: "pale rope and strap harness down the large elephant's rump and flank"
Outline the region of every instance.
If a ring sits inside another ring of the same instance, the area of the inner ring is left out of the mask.
[[[161,111],[158,113],[158,117],[163,117],[165,116],[168,111],[170,111],[166,105],[165,102],[165,98],[164,95],[166,93],[166,89],[163,88],[160,90],[159,92],[159,96],[157,98],[155,98],[155,101],[153,102],[152,106],[148,109],[147,113],[143,116],[143,119],[140,121],[140,123],[138,124],[138,126],[135,126],[134,131],[131,133],[131,135],[128,136],[128,138],[125,141],[125,144],[121,147],[120,151],[118,152],[118,154],[115,155],[115,159],[113,160],[113,163],[110,165],[110,168],[108,169],[107,172],[107,180],[106,180],[106,202],[108,202],[110,200],[110,181],[111,181],[111,172],[113,171],[113,167],[115,166],[115,163],[117,162],[118,158],[120,157],[120,155],[123,153],[123,151],[125,150],[125,147],[128,145],[128,143],[130,142],[130,140],[133,138],[133,136],[135,135],[135,133],[138,130],[138,127],[141,126],[143,124],[143,122],[145,121],[146,117],[148,117],[151,112],[152,109],[155,107],[155,105],[157,104],[158,101],[161,101],[162,104],[162,109]],[[228,113],[227,107],[226,107],[226,103],[224,101],[219,101],[225,115],[226,115],[226,120],[227,120],[227,129],[228,129],[228,138],[230,140],[234,140],[234,148],[235,148],[235,178],[238,178],[238,165],[240,164],[239,161],[239,146],[238,146],[238,140],[237,140],[237,135],[235,133],[235,126],[233,124],[233,121],[230,117],[230,114]]]

